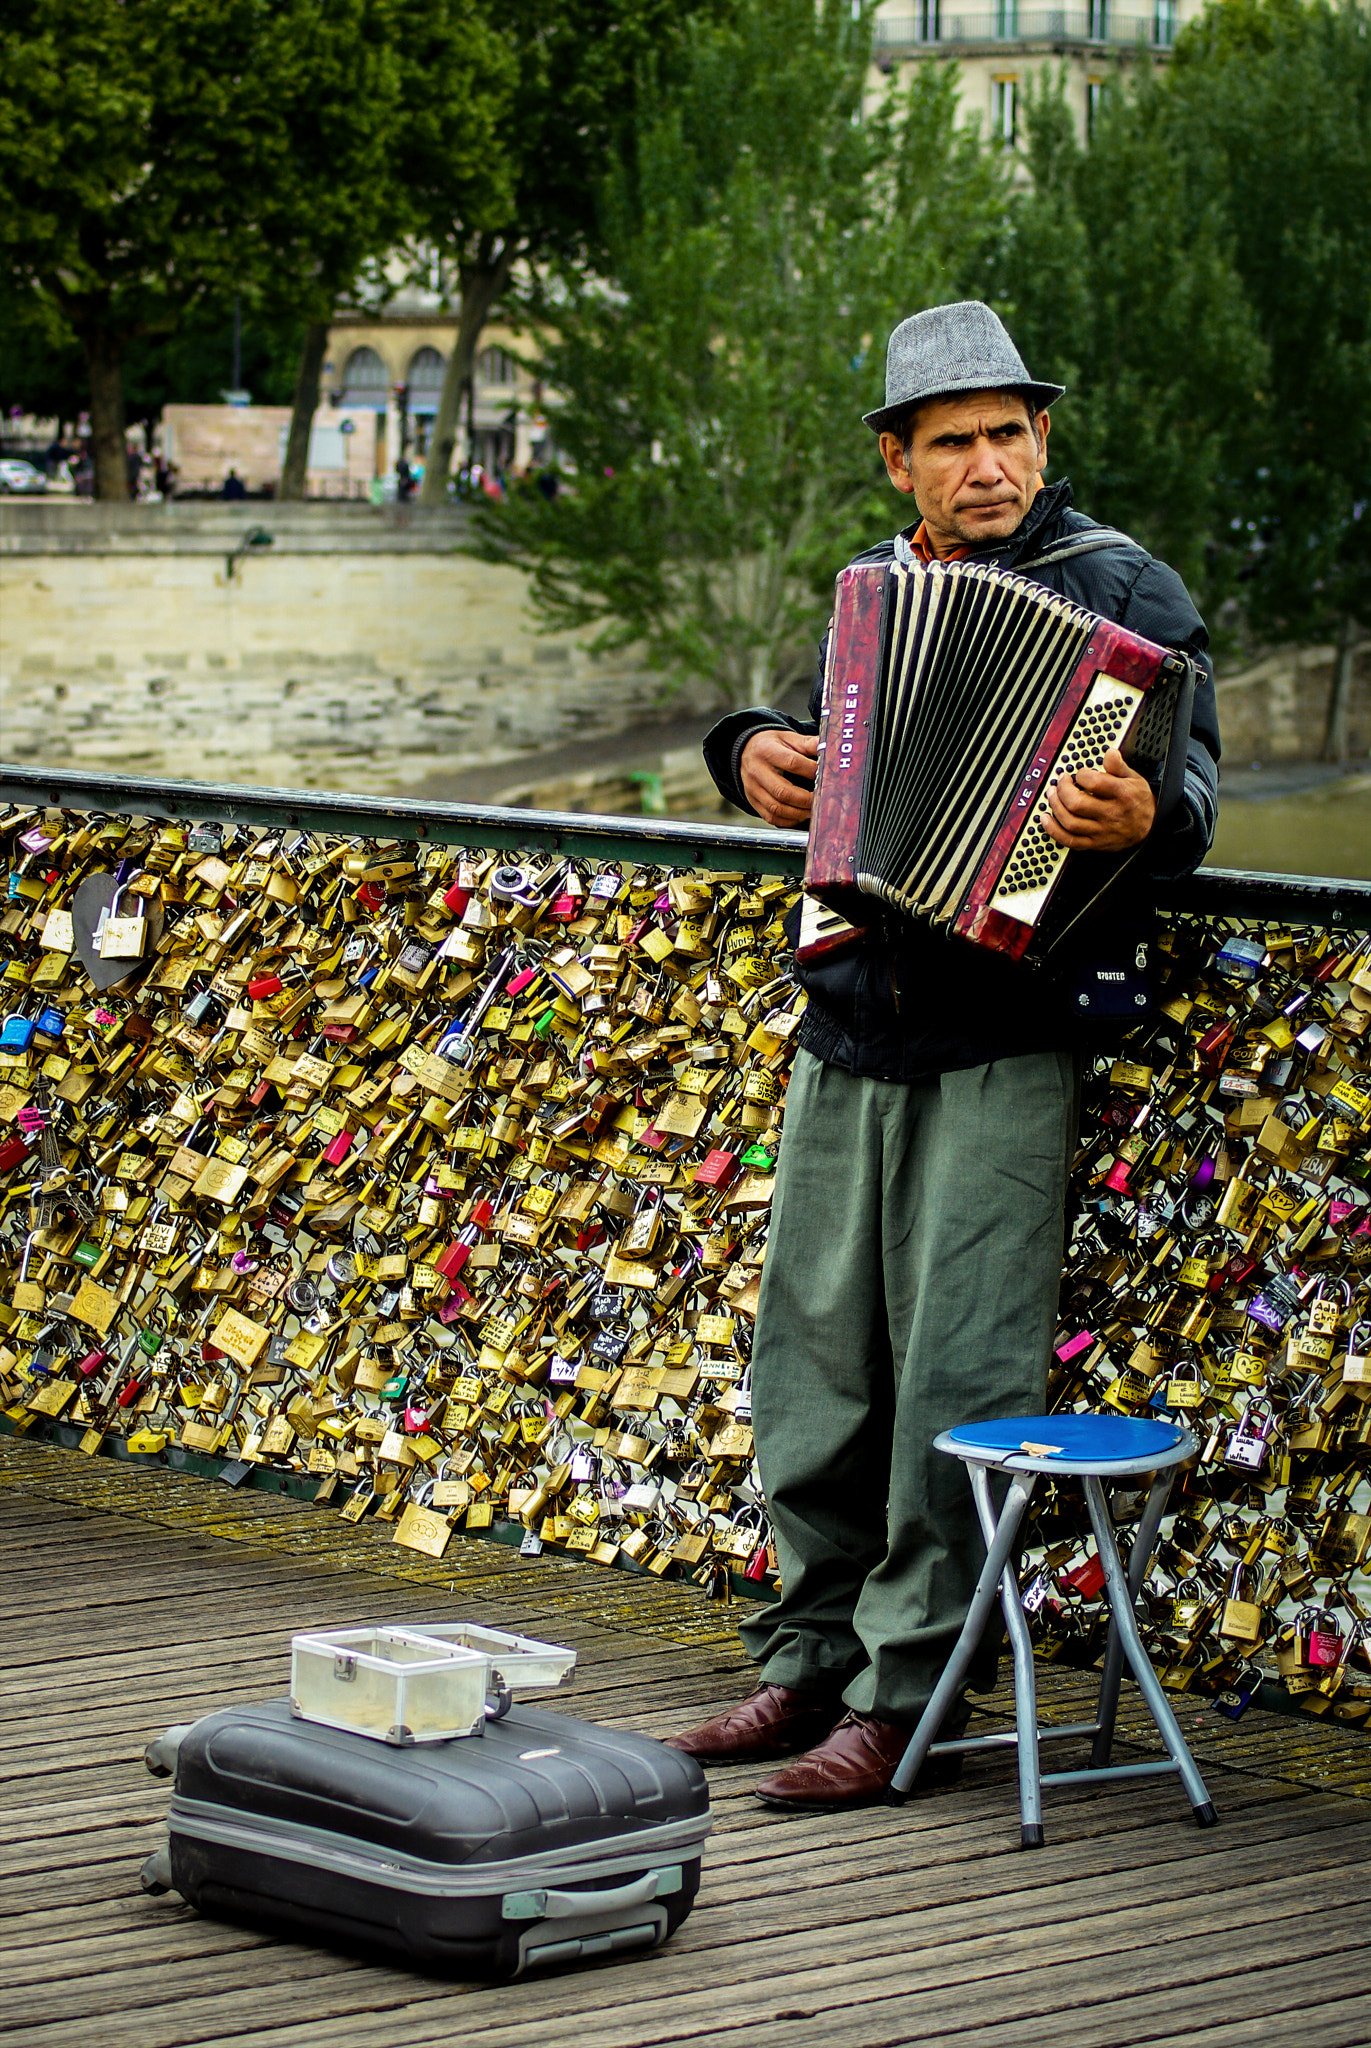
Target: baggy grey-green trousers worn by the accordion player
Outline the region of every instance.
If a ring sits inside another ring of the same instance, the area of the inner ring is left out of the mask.
[[[928,1704],[986,1556],[932,1440],[1043,1411],[1076,1094],[1070,1053],[910,1083],[797,1055],[752,1348],[764,1679],[910,1726]]]

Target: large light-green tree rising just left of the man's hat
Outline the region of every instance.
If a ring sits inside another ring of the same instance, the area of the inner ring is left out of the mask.
[[[555,276],[541,369],[572,487],[477,514],[549,627],[598,625],[730,702],[812,662],[836,565],[889,530],[861,424],[885,334],[955,297],[1000,227],[955,78],[920,70],[859,119],[867,55],[846,0],[689,29],[605,180],[603,276]]]

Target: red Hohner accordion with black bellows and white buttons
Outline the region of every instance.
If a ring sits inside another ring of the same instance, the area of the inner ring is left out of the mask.
[[[1137,856],[1070,852],[1049,791],[1111,748],[1185,782],[1195,666],[1008,569],[844,569],[828,635],[799,958],[873,903],[1039,965]]]

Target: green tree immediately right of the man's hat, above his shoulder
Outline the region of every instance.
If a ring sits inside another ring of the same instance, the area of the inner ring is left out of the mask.
[[[1152,70],[1076,141],[1064,78],[1025,106],[1000,309],[1037,377],[1068,387],[1053,469],[1213,608],[1236,561],[1213,545],[1262,410],[1266,354],[1234,260],[1221,180],[1176,133]]]

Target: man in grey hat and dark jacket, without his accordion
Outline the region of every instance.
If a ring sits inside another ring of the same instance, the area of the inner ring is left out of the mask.
[[[1062,776],[1047,821],[1060,846],[1141,848],[1135,872],[1172,879],[1199,866],[1213,836],[1209,643],[1172,569],[1072,510],[1070,483],[1043,483],[1062,395],[1029,377],[986,305],[902,322],[885,406],[867,426],[918,520],[857,563],[1023,565],[1074,604],[1193,655],[1174,811],[1158,819],[1156,786],[1111,750],[1098,770]],[[822,672],[820,662],[809,719],[738,711],[705,739],[719,791],[771,825],[809,821]],[[672,1743],[703,1763],[779,1763],[758,1784],[762,1800],[832,1810],[885,1800],[980,1573],[971,1493],[934,1436],[1045,1407],[1080,1022],[1057,977],[889,915],[801,979],[809,1004],[752,1352],[783,1589],[742,1626],[756,1690]],[[975,1683],[994,1683],[990,1642],[982,1667]],[[961,1702],[943,1739],[965,1716]],[[957,1767],[934,1757],[920,1782]]]

